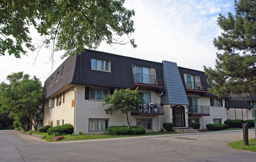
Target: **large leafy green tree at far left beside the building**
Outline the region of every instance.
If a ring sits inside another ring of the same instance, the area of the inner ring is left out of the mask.
[[[28,74],[23,72],[12,73],[7,76],[10,82],[0,84],[0,102],[2,113],[9,113],[14,120],[22,120],[28,128],[28,119],[37,130],[37,123],[43,100],[43,87],[38,78],[33,76],[30,79]]]

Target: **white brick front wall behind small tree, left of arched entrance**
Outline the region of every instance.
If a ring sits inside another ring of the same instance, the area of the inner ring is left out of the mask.
[[[122,126],[127,125],[126,114],[121,114],[121,112],[113,113],[113,115],[106,114],[104,109],[108,106],[102,106],[104,101],[100,100],[85,100],[85,87],[76,87],[76,134],[79,131],[83,133],[89,132],[89,118],[109,118],[109,126]],[[158,103],[158,93],[152,91],[139,91],[139,92],[150,92],[151,102]],[[128,118],[130,120],[130,125],[136,126],[137,118],[147,118],[152,119],[152,130],[158,131],[158,116],[132,116],[128,113]]]

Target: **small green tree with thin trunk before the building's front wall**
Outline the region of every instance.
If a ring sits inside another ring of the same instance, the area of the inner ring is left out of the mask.
[[[143,99],[141,95],[138,94],[138,89],[116,89],[113,95],[104,96],[103,105],[107,104],[109,104],[109,107],[105,109],[106,114],[113,115],[113,113],[117,111],[121,111],[122,114],[126,113],[127,127],[129,128],[128,112],[136,110],[136,107],[143,104]]]

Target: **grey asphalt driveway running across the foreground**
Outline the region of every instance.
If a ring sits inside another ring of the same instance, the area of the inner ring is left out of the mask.
[[[249,138],[254,138],[249,130]],[[232,149],[242,131],[46,142],[0,131],[0,162],[256,162],[256,153]]]

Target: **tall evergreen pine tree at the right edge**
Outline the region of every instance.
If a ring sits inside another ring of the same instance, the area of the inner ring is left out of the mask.
[[[235,0],[236,15],[219,14],[218,25],[223,33],[213,44],[217,53],[215,69],[204,66],[211,93],[256,92],[256,4],[254,0]],[[212,80],[215,80],[213,84]]]

